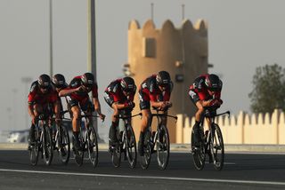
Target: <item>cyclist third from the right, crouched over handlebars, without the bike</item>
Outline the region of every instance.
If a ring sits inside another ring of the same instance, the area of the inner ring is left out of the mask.
[[[116,128],[118,127],[119,110],[126,109],[129,112],[133,110],[135,91],[134,79],[126,76],[112,81],[104,92],[105,101],[114,110],[109,131],[110,146],[118,141]]]

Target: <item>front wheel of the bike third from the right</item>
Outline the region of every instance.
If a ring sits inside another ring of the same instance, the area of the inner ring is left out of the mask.
[[[136,165],[136,142],[134,136],[134,130],[131,125],[126,127],[126,137],[125,137],[125,144],[126,144],[126,157],[129,163],[130,168],[134,168]]]

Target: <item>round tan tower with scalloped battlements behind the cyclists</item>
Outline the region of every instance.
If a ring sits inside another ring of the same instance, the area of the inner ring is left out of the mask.
[[[208,26],[198,20],[193,26],[184,20],[181,28],[175,28],[170,20],[161,29],[155,28],[152,20],[147,20],[140,28],[136,20],[128,27],[128,64],[136,85],[149,75],[166,70],[174,82],[171,94],[173,107],[169,114],[192,116],[196,108],[188,97],[189,85],[200,74],[208,72]],[[134,113],[140,112],[138,96],[134,98]],[[134,131],[138,138],[141,121],[133,120]],[[156,122],[152,127],[155,129]],[[168,119],[170,141],[175,142],[175,122]]]

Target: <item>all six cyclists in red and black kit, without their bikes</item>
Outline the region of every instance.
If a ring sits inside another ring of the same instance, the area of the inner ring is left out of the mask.
[[[205,107],[220,107],[223,104],[221,90],[223,83],[217,75],[199,75],[189,88],[189,97],[197,107],[195,114],[195,124],[193,130],[199,134],[200,118]],[[138,95],[140,109],[142,113],[142,123],[140,138],[138,141],[138,153],[143,155],[143,139],[148,124],[151,122],[151,107],[162,114],[167,115],[167,110],[172,107],[170,101],[174,83],[167,71],[150,75],[139,86]],[[106,103],[113,109],[109,132],[110,147],[118,141],[116,128],[118,127],[118,115],[121,110],[129,113],[135,107],[134,96],[136,84],[130,76],[118,78],[112,81],[103,93]],[[92,93],[92,99],[89,97]],[[73,148],[78,150],[79,130],[81,126],[80,115],[92,115],[95,111],[104,121],[105,115],[101,111],[101,103],[98,99],[98,84],[94,80],[92,73],[75,76],[68,84],[64,75],[56,74],[52,78],[49,75],[40,75],[37,81],[33,82],[28,93],[28,114],[31,117],[29,146],[35,141],[35,125],[39,115],[53,115],[55,123],[61,123],[61,97],[65,97],[68,110],[72,120]],[[91,120],[92,121],[92,120]],[[167,124],[167,117],[163,118],[162,123]],[[208,120],[208,126],[210,121]],[[207,131],[206,131],[207,132]],[[199,135],[195,138],[199,140]],[[63,148],[61,152],[64,154]]]

